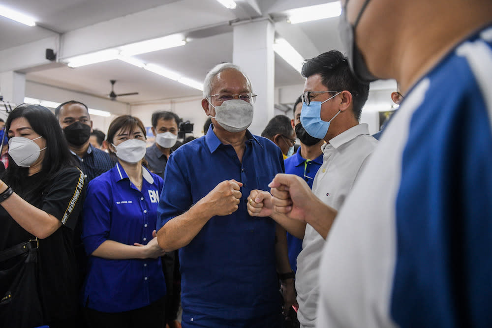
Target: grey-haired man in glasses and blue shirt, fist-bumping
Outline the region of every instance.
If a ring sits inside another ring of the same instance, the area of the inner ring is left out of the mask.
[[[279,327],[276,267],[291,271],[285,230],[250,217],[246,199],[284,171],[282,154],[247,130],[256,95],[238,66],[215,66],[203,93],[213,125],[171,154],[158,207],[159,245],[180,249],[182,324]]]

